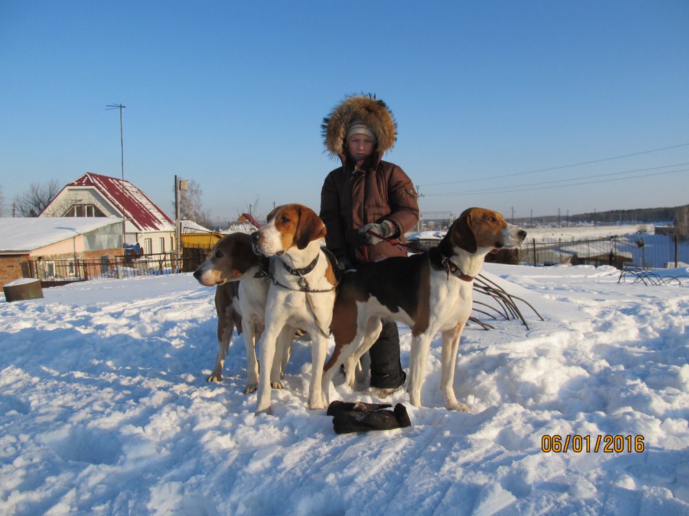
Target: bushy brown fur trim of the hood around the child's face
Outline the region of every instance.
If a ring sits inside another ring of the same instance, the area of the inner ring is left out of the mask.
[[[344,159],[347,155],[345,137],[351,122],[360,120],[371,126],[378,137],[376,151],[382,156],[395,145],[397,123],[387,105],[375,95],[345,97],[331,113],[323,118],[321,131],[325,148],[333,156]]]

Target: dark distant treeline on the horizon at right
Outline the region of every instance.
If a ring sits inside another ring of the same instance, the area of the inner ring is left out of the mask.
[[[671,208],[635,208],[632,210],[610,210],[597,211],[593,213],[577,213],[576,215],[546,215],[544,217],[533,217],[534,222],[542,224],[551,224],[558,222],[564,224],[577,224],[578,222],[595,222],[608,226],[611,224],[630,224],[635,222],[643,222],[650,224],[652,222],[668,222],[670,224],[677,222],[679,219],[682,222],[683,215],[689,211],[689,204],[683,206],[675,206]],[[517,219],[517,222],[529,222],[529,217],[522,217]]]

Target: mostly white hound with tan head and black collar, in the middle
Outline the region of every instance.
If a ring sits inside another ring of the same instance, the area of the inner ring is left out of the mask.
[[[325,224],[301,204],[278,206],[251,235],[254,250],[272,258],[274,273],[265,307],[265,330],[260,338],[261,367],[273,363],[276,340],[285,327],[311,335],[311,385],[309,409],[325,409],[321,384],[327,339],[335,301],[336,276],[321,249]],[[258,380],[256,413],[271,413],[271,385]]]

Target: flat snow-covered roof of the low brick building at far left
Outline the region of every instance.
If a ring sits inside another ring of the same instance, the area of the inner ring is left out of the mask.
[[[113,217],[0,217],[0,254],[19,254],[122,224]]]

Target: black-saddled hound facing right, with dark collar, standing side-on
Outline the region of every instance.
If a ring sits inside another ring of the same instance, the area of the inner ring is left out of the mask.
[[[331,330],[335,350],[325,365],[323,392],[345,364],[353,386],[353,365],[376,341],[382,319],[411,327],[409,398],[421,406],[421,387],[431,339],[442,333],[440,389],[450,410],[469,411],[453,390],[455,361],[462,329],[471,314],[473,279],[493,249],[516,247],[526,231],[484,208],[469,208],[453,222],[440,244],[429,252],[391,257],[347,272],[338,287]]]

